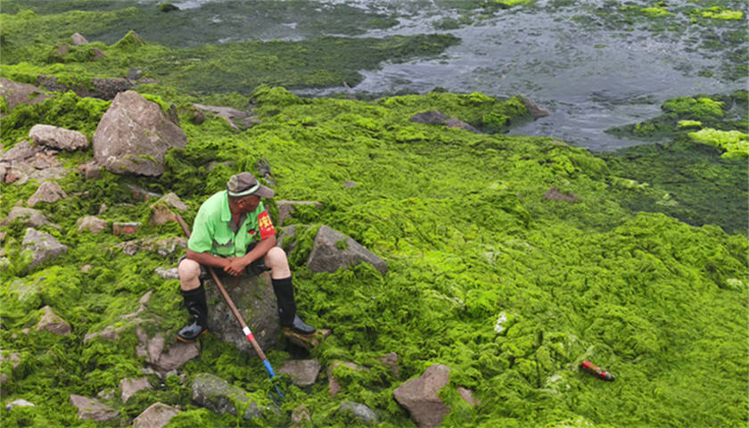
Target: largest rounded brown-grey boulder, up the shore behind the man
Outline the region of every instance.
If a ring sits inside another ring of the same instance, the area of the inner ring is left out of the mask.
[[[159,104],[134,91],[118,94],[94,133],[96,162],[116,174],[159,176],[164,154],[185,147],[187,137]]]

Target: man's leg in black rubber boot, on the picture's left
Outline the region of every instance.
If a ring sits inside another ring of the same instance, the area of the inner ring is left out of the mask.
[[[193,324],[185,325],[177,333],[177,339],[182,342],[194,342],[202,333],[208,332],[208,304],[205,301],[205,287],[201,281],[201,265],[191,259],[180,259],[177,275],[185,307],[193,317]]]

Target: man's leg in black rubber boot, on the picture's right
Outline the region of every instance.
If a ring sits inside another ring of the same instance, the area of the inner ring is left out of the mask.
[[[305,324],[296,313],[292,271],[284,250],[280,247],[271,248],[263,262],[270,268],[270,283],[273,285],[273,291],[276,292],[281,326],[292,328],[300,334],[315,333],[315,327]]]

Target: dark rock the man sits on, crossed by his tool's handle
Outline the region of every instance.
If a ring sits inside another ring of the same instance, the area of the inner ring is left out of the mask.
[[[268,350],[276,347],[280,325],[276,294],[270,286],[270,276],[243,275],[237,280],[234,277],[219,277],[229,297],[234,301],[239,313],[250,327],[260,348]],[[208,329],[224,342],[233,343],[239,350],[255,355],[247,336],[242,332],[231,309],[218,292],[213,280],[206,281],[206,298],[209,301]]]

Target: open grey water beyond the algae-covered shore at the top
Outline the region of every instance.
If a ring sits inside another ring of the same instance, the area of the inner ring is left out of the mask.
[[[150,8],[159,3],[138,2]],[[721,72],[735,67],[728,62],[729,53],[745,55],[745,37],[736,42],[738,45],[701,47],[705,42],[726,38],[726,25],[728,30],[745,31],[749,6],[743,2],[723,3],[728,8],[743,10],[744,19],[714,20],[703,25],[690,23],[689,15],[684,13],[689,8],[703,7],[689,0],[668,2],[667,9],[673,14],[666,18],[649,17],[641,12],[653,5],[643,1],[626,3],[634,5],[636,12],[630,15],[621,12],[620,2],[539,0],[530,6],[511,9],[475,7],[479,3],[457,0],[259,1],[251,5],[228,0],[173,2],[182,9],[179,13],[189,17],[185,37],[177,37],[185,45],[300,40],[323,35],[383,37],[451,33],[460,37],[462,43],[438,58],[386,63],[381,70],[362,70],[366,78],[353,88],[298,92],[387,95],[424,93],[439,86],[456,93],[521,94],[551,114],[514,128],[512,133],[556,136],[597,152],[641,144],[604,131],[657,116],[661,103],[669,98],[723,94],[747,86],[746,76],[727,78]],[[368,24],[372,20],[389,20],[395,25],[372,26]],[[144,37],[170,44],[167,39],[159,40],[159,29],[148,31]],[[171,37],[175,39],[173,33]]]

